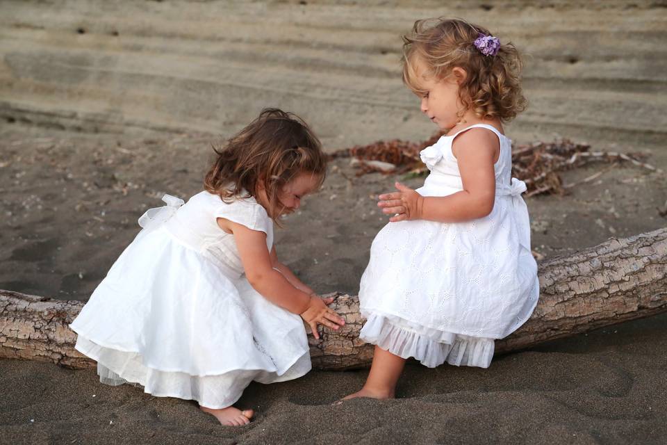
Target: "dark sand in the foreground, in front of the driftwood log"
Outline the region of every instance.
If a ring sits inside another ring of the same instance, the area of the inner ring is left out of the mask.
[[[406,366],[391,401],[331,406],[365,371],[252,383],[248,426],[195,403],[99,384],[92,370],[0,360],[2,444],[664,444],[666,316],[497,357],[489,369]]]

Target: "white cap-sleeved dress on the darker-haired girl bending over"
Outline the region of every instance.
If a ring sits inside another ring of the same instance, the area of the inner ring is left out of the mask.
[[[265,232],[273,223],[252,197],[231,204],[201,192],[147,211],[70,325],[76,349],[98,363],[100,381],[131,382],[154,396],[228,407],[249,382],[281,382],[311,369],[302,319],[257,293],[243,275],[227,218]],[[182,207],[181,207],[182,206]]]

